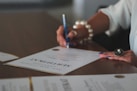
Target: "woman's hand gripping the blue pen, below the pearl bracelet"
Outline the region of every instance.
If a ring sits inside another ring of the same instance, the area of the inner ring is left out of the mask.
[[[59,45],[62,47],[66,47],[66,40],[64,38],[64,28],[62,25],[59,26],[59,28],[56,31],[56,34],[57,34],[57,42],[59,43]],[[73,46],[76,46],[78,45],[81,39],[87,36],[88,36],[88,31],[83,26],[79,26],[78,29],[75,30],[69,28],[69,34],[67,37],[70,38],[71,44]]]

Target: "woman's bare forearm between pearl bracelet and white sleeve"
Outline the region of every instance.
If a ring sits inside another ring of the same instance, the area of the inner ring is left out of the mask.
[[[92,26],[94,34],[105,32],[109,29],[109,18],[101,11],[97,12],[94,16],[88,19],[87,22]]]

